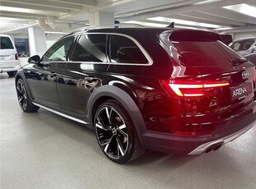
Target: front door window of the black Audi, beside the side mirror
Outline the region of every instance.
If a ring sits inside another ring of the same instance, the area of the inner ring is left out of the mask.
[[[73,44],[74,37],[68,37],[54,44],[43,56],[42,62],[66,61],[69,48]]]

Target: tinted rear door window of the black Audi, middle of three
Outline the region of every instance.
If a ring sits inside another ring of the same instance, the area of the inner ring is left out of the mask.
[[[107,35],[82,35],[73,49],[72,61],[104,62]]]

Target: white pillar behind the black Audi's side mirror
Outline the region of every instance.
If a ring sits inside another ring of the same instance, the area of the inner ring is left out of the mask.
[[[39,55],[42,57],[46,51],[45,31],[40,27],[28,28],[30,55]]]

